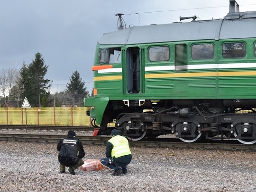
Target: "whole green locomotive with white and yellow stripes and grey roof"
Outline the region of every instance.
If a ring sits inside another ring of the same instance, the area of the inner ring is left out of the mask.
[[[221,135],[256,143],[256,11],[239,12],[230,0],[223,19],[191,18],[103,34],[94,97],[85,98],[99,135],[115,122],[130,140]]]

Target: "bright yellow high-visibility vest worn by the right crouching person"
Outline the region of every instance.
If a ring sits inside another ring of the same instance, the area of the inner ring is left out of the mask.
[[[120,135],[116,135],[112,137],[109,142],[114,146],[111,151],[111,156],[115,158],[119,158],[121,156],[129,155],[131,154],[131,151],[129,149],[129,143],[128,140]]]

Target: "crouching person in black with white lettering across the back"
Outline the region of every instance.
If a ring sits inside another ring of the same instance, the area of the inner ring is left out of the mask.
[[[75,132],[69,131],[67,135],[68,137],[61,139],[57,145],[60,173],[65,173],[65,167],[69,167],[70,174],[75,175],[74,170],[82,166],[85,153],[82,142],[75,138]]]

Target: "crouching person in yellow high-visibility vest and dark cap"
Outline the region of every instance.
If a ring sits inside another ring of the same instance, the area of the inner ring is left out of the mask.
[[[120,136],[117,129],[111,131],[112,138],[107,142],[106,158],[101,159],[101,164],[115,171],[117,176],[127,173],[127,165],[131,162],[132,155],[128,140]],[[121,167],[121,168],[120,168]]]

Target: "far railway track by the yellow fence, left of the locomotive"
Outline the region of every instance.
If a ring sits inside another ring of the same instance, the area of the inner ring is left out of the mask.
[[[92,126],[58,126],[58,125],[0,125],[0,129],[32,129],[32,130],[73,130],[73,131],[93,131]]]

